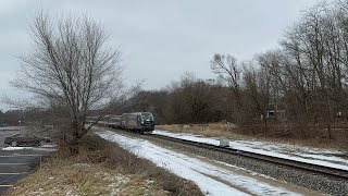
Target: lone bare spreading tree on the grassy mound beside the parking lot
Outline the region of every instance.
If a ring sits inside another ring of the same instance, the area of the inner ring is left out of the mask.
[[[38,13],[30,24],[33,46],[21,57],[14,86],[67,112],[72,151],[87,133],[88,111],[113,99],[122,83],[121,51],[107,46],[104,29],[88,16]]]

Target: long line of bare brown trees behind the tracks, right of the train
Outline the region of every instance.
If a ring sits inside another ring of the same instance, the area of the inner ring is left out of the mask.
[[[306,10],[276,49],[250,61],[216,53],[211,70],[216,79],[184,74],[142,90],[128,110],[151,111],[158,123],[226,120],[253,134],[347,138],[348,1]]]

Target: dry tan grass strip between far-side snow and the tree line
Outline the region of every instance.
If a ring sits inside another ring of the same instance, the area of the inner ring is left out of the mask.
[[[203,135],[208,137],[227,137],[233,139],[248,139],[248,140],[264,140],[264,142],[276,142],[285,144],[296,144],[309,147],[320,148],[334,148],[347,150],[347,143],[337,143],[337,140],[312,137],[312,138],[299,138],[291,137],[275,132],[250,132],[244,133],[236,125],[227,125],[226,123],[209,123],[209,124],[172,124],[172,125],[157,125],[157,130],[176,132],[176,133],[191,133],[195,135]]]

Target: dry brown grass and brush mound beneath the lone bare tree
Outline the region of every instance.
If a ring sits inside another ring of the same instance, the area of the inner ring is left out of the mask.
[[[60,147],[8,195],[202,195],[194,183],[98,136],[87,136],[75,157]]]

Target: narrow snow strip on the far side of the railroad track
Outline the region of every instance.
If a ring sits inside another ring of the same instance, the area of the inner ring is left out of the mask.
[[[165,135],[175,138],[195,140],[212,145],[220,145],[220,138],[204,137],[189,133],[172,133],[166,131],[153,131],[153,134]],[[229,146],[235,149],[251,151],[261,155],[279,157],[289,160],[326,166],[348,171],[348,152],[333,149],[309,148],[297,145],[257,142],[257,140],[229,140]]]

